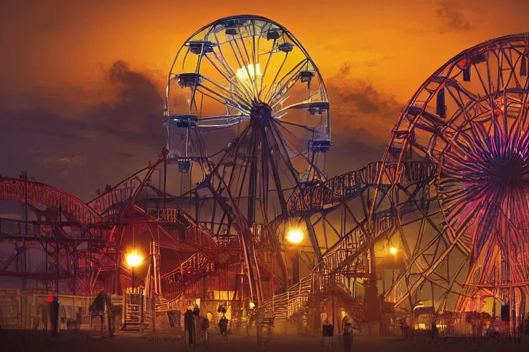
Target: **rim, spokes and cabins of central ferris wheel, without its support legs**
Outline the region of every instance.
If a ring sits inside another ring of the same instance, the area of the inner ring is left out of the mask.
[[[165,102],[167,160],[185,171],[238,138],[247,139],[238,153],[251,153],[245,128],[252,119],[264,126],[265,138],[276,138],[271,144],[284,150],[301,181],[323,177],[331,140],[320,72],[278,23],[227,17],[198,30],[176,54]],[[260,141],[258,148],[263,146]]]

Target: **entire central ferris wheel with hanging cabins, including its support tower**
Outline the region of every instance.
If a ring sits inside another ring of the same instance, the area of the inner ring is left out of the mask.
[[[239,237],[256,302],[262,299],[256,226],[287,219],[289,197],[324,181],[329,118],[329,97],[307,50],[264,17],[205,25],[170,69],[166,162],[189,173],[190,186],[179,194],[195,198],[187,210],[197,222]],[[271,232],[264,230],[276,236]]]

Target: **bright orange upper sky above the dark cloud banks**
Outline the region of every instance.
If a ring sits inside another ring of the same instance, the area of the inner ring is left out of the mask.
[[[29,78],[26,87],[90,80],[101,64],[116,60],[166,72],[178,47],[201,25],[248,13],[293,32],[324,77],[349,61],[353,76],[372,80],[399,100],[407,100],[424,78],[466,47],[528,30],[529,10],[524,0],[3,1],[2,6],[1,42],[7,50],[1,78],[10,83]]]

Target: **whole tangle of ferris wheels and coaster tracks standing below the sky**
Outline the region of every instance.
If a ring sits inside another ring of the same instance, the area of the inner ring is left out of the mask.
[[[156,162],[88,203],[1,179],[21,216],[0,219],[0,275],[50,294],[143,287],[179,309],[222,301],[232,319],[313,329],[322,307],[380,322],[501,305],[515,331],[529,287],[528,41],[455,56],[406,104],[381,162],[327,177],[329,96],[307,50],[263,17],[215,21],[176,54]]]

